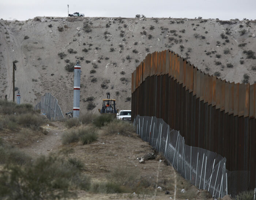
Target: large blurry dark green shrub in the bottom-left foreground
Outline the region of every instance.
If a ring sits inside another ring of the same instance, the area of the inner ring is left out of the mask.
[[[26,167],[8,165],[0,176],[0,193],[4,199],[59,199],[70,195],[68,190],[72,187],[90,188],[90,178],[53,156],[41,156]]]

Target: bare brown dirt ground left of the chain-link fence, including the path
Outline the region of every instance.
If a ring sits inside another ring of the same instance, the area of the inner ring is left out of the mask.
[[[146,160],[145,163],[139,163],[138,157],[148,153],[156,153],[153,148],[142,141],[135,133],[129,136],[124,135],[105,135],[102,129],[98,129],[98,140],[92,144],[82,145],[80,143],[71,143],[63,145],[61,135],[67,129],[63,122],[52,122],[49,126],[43,127],[48,133],[44,135],[30,137],[23,143],[18,143],[17,133],[1,132],[1,137],[8,143],[17,146],[21,151],[37,158],[41,155],[57,154],[64,158],[78,158],[84,163],[85,174],[91,177],[93,183],[106,182],[109,174],[116,170],[128,171],[128,174],[140,179],[138,188],[143,184],[147,185],[147,191],[121,194],[95,194],[77,190],[77,199],[170,199],[174,198],[175,179],[177,181],[176,199],[207,199],[209,194],[204,190],[198,190],[190,185],[179,174],[174,174],[172,166],[159,159]],[[161,186],[162,190],[156,188]],[[181,193],[181,189],[185,193]],[[170,193],[166,195],[166,191]],[[137,191],[135,191],[137,192]]]

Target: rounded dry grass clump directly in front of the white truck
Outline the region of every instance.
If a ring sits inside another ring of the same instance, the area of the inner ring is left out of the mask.
[[[113,120],[104,127],[104,133],[106,135],[121,134],[131,136],[131,134],[134,132],[133,125],[123,120]]]

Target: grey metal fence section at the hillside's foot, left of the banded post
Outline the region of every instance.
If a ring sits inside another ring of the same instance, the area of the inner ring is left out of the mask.
[[[35,110],[41,109],[41,113],[45,113],[49,120],[60,120],[64,118],[58,100],[50,93],[45,93],[41,97],[41,101],[35,105]]]

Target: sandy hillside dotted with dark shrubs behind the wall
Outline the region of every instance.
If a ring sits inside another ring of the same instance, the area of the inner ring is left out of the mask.
[[[12,99],[12,61],[17,60],[15,87],[22,103],[35,105],[50,92],[63,113],[71,111],[74,74],[64,67],[68,60],[80,60],[82,112],[90,96],[97,112],[107,92],[117,99],[118,109],[129,109],[131,72],[147,53],[165,49],[230,82],[246,82],[247,74],[252,84],[256,81],[255,25],[256,21],[248,20],[173,18],[0,20],[0,98],[7,94]],[[62,52],[63,59],[58,56]]]

